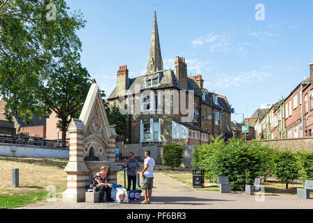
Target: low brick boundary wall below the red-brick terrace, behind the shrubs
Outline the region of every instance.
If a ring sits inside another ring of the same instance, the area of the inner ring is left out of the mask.
[[[283,149],[290,149],[293,151],[307,150],[313,151],[313,137],[305,137],[298,139],[271,139],[260,140],[263,144],[269,144],[271,146],[278,146]]]

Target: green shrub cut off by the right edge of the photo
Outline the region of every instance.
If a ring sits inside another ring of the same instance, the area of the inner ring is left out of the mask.
[[[313,180],[313,152],[305,151],[300,153],[300,176],[303,182]]]

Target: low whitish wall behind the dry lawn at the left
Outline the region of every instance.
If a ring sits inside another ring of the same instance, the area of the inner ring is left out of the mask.
[[[0,144],[0,156],[13,157],[12,151],[15,151],[15,157],[68,159],[70,156],[66,149]]]

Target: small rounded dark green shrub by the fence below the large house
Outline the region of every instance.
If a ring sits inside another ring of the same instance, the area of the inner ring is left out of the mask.
[[[163,148],[164,165],[168,167],[180,167],[184,157],[184,148],[181,146],[168,145]]]

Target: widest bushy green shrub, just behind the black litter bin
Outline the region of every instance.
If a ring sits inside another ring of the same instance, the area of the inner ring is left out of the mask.
[[[243,190],[255,178],[267,176],[273,166],[271,148],[258,141],[243,139],[214,140],[212,144],[195,148],[195,164],[204,169],[206,178],[216,182],[217,176],[228,176],[233,190]]]

